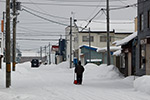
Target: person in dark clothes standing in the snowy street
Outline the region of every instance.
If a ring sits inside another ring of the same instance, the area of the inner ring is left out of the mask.
[[[77,74],[77,84],[82,84],[84,67],[81,65],[81,61],[78,62],[77,67],[75,68],[75,73]]]

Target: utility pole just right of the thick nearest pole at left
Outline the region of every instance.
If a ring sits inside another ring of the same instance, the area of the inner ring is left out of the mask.
[[[17,21],[17,16],[16,16],[16,0],[13,0],[13,50],[12,50],[12,62],[13,62],[13,71],[15,71],[16,67],[16,21]]]

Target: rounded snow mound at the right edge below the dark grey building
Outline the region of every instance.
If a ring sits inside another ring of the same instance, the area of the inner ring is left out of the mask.
[[[150,94],[150,76],[145,75],[134,81],[135,90]]]

